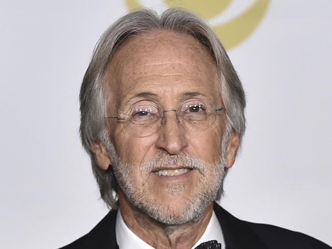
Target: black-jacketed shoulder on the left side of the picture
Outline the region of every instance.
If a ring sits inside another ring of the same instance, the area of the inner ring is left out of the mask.
[[[89,233],[59,249],[117,248],[116,214],[116,210],[110,211]]]

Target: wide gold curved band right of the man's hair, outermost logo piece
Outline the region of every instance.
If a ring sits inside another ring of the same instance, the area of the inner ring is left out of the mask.
[[[233,48],[243,42],[257,28],[267,10],[268,4],[269,0],[256,0],[241,15],[212,27],[225,49]]]

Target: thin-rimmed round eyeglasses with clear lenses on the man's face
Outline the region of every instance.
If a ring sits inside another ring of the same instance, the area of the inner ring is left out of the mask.
[[[224,107],[212,108],[202,102],[191,101],[182,104],[177,110],[160,110],[151,101],[139,101],[127,111],[125,117],[106,117],[124,122],[128,131],[136,137],[147,137],[157,132],[165,120],[165,113],[175,112],[177,122],[189,131],[204,131],[215,122],[217,114],[225,111]]]

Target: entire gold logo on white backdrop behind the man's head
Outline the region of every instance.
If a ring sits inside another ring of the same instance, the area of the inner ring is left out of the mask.
[[[138,0],[125,0],[129,10],[143,7]],[[163,0],[168,7],[181,7],[199,13],[205,19],[220,15],[231,3],[231,0]],[[226,49],[243,42],[257,28],[267,10],[269,0],[255,0],[243,13],[227,22],[212,28],[219,36]]]

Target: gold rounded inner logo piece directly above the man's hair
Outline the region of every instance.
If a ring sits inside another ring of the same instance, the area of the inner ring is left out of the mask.
[[[199,13],[205,19],[210,19],[223,12],[231,0],[164,0],[169,7],[181,7],[194,13]]]

